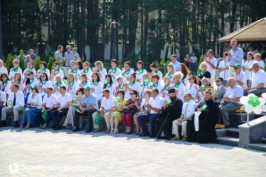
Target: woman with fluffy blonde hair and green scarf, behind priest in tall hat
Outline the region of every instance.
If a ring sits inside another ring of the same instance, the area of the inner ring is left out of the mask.
[[[173,75],[173,85],[169,87],[169,89],[175,89],[177,97],[184,102],[184,94],[185,94],[185,85],[180,82],[180,79],[183,77],[182,72],[177,71]]]

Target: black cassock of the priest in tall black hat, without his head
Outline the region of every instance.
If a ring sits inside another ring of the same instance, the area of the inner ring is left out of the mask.
[[[164,108],[162,108],[162,114],[161,114],[162,116],[156,122],[156,132],[157,134],[159,133],[158,136],[159,139],[165,138],[166,140],[170,140],[170,138],[173,138],[175,136],[172,134],[173,121],[176,120],[177,118],[180,118],[180,115],[182,113],[182,106],[183,106],[182,100],[177,98],[174,106],[168,105],[168,107],[165,110]],[[164,123],[164,120],[166,119],[168,113],[169,116]],[[162,130],[164,131],[164,137],[160,136],[161,132],[159,132],[161,127],[163,126],[163,123],[164,127],[162,128]]]

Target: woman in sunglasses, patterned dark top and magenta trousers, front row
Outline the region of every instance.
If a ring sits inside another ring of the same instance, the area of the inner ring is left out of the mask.
[[[137,95],[138,91],[132,89],[130,90],[131,98],[127,100],[127,103],[125,105],[119,104],[119,107],[123,108],[124,110],[133,110],[132,113],[123,113],[121,115],[122,122],[126,127],[126,131],[124,132],[126,135],[131,134],[132,119],[134,118],[134,114],[139,112],[136,105],[140,106],[140,99],[137,97]]]

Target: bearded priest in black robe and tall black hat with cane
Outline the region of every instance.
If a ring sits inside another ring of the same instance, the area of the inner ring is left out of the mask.
[[[168,94],[169,98],[171,99],[171,103],[167,104],[168,100],[164,100],[161,114],[162,116],[157,120],[156,123],[157,135],[159,134],[159,139],[165,138],[166,140],[170,140],[170,138],[175,136],[172,134],[173,121],[180,117],[183,105],[182,100],[176,97],[175,89],[169,89]],[[166,118],[167,120],[165,120]],[[161,127],[163,128],[161,129]],[[162,131],[164,132],[164,137],[160,136]]]

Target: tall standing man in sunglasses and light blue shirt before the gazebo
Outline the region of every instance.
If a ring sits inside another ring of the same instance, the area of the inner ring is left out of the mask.
[[[237,40],[232,39],[230,45],[233,49],[227,51],[228,56],[226,57],[226,61],[230,63],[228,72],[229,77],[232,75],[233,66],[235,66],[236,64],[241,65],[244,56],[244,51],[238,47]]]

